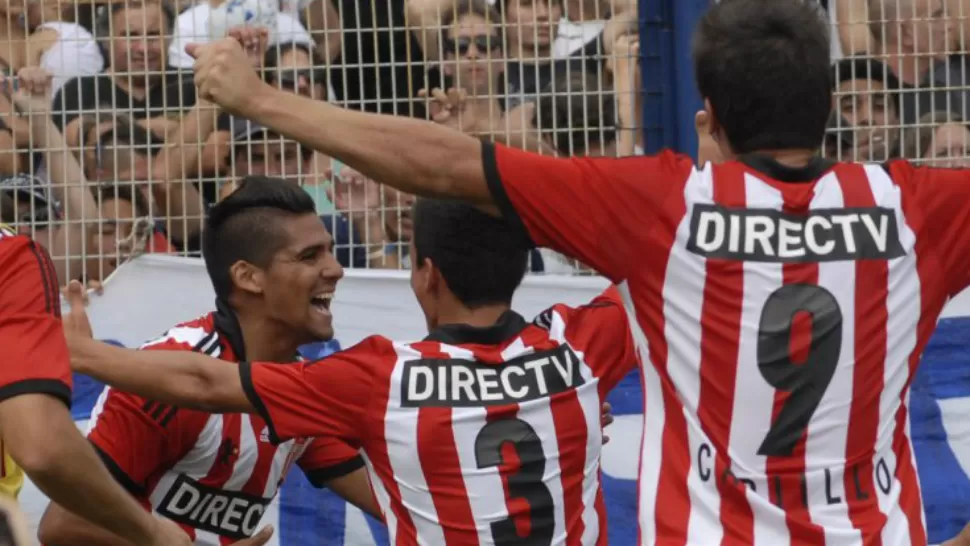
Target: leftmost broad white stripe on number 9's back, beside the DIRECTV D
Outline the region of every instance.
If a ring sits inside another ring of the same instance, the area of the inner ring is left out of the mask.
[[[687,524],[687,543],[716,543],[723,529],[718,517],[721,499],[714,473],[714,444],[704,434],[697,417],[701,395],[701,315],[704,309],[704,287],[707,280],[707,260],[687,250],[691,234],[693,207],[713,203],[713,171],[695,173],[687,180],[684,200],[687,214],[677,227],[677,236],[670,249],[664,277],[664,337],[667,339],[667,374],[680,395],[687,424],[688,452],[691,466],[686,478],[690,496],[690,517]],[[650,395],[648,395],[649,397]],[[681,411],[681,408],[669,408]],[[704,446],[707,446],[705,449]],[[702,457],[695,454],[709,449],[711,458],[707,468]]]

